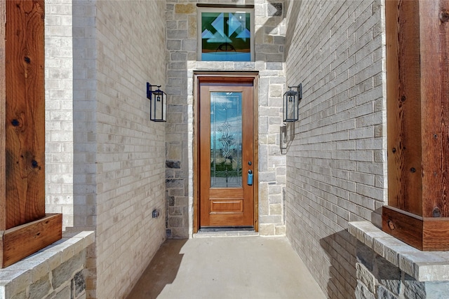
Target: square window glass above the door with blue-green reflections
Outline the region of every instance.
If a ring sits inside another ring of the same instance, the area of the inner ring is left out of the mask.
[[[250,61],[250,13],[201,13],[201,60]]]

